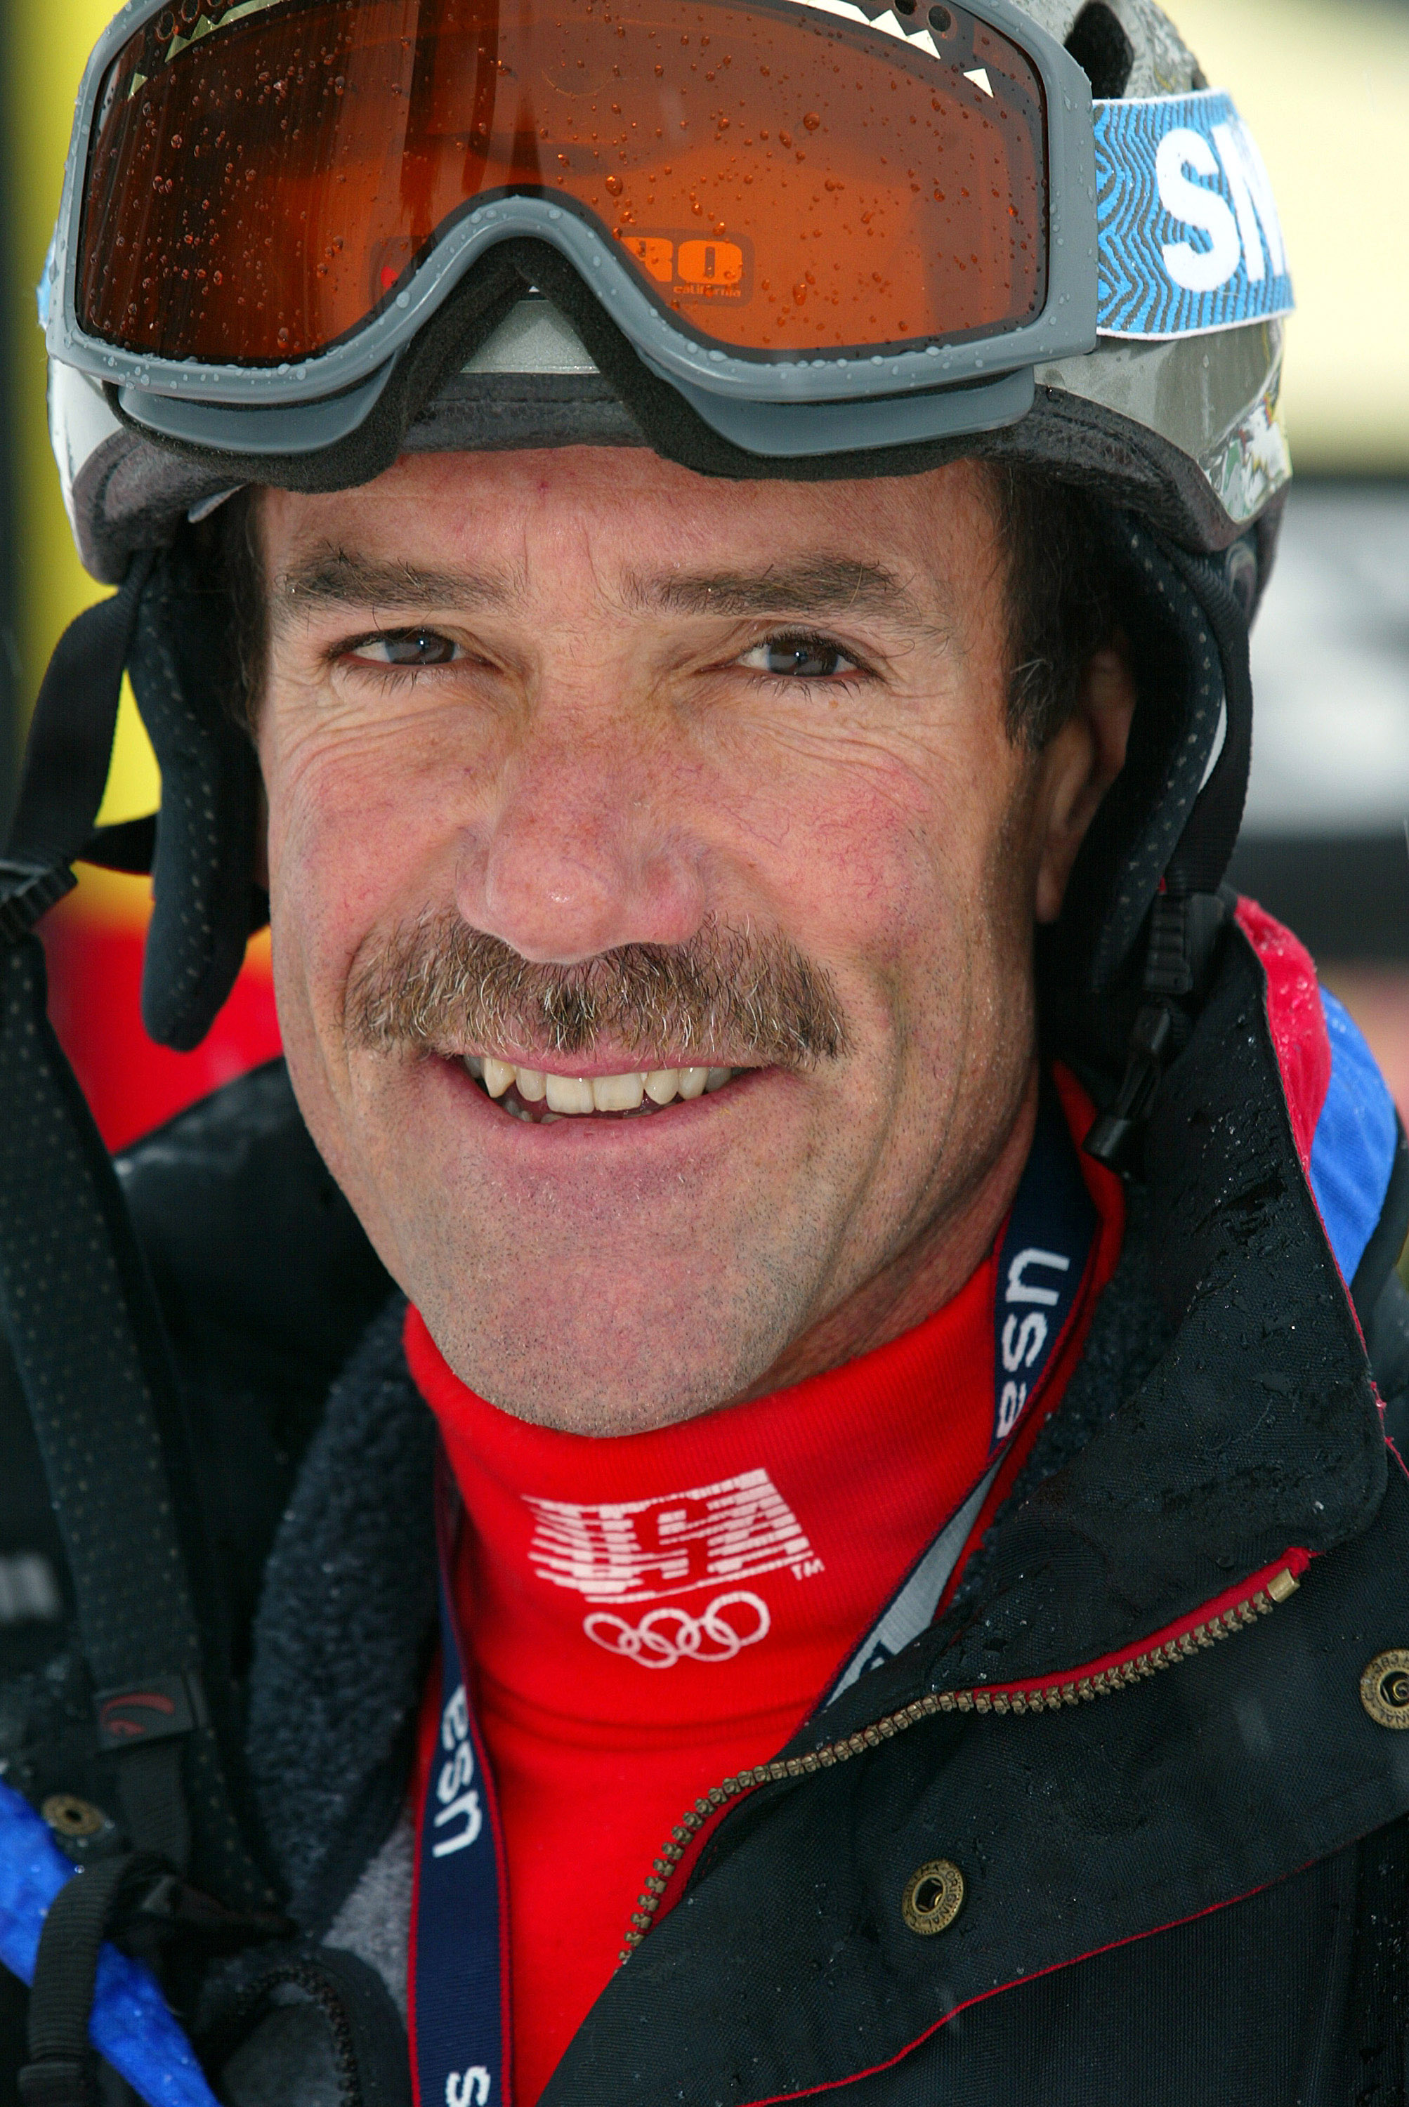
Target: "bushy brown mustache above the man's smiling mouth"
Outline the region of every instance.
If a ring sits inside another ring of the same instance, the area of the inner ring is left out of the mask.
[[[621,944],[581,965],[535,965],[453,910],[402,923],[356,965],[348,1039],[371,1051],[522,1047],[710,1056],[811,1068],[847,1049],[832,976],[788,938],[706,921],[687,944]]]

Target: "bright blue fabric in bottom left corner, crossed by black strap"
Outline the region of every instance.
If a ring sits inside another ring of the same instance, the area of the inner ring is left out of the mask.
[[[76,1869],[27,1799],[0,1785],[0,1962],[34,1981],[40,1930]],[[88,2040],[147,2107],[217,2107],[192,2044],[141,1962],[103,1943]]]

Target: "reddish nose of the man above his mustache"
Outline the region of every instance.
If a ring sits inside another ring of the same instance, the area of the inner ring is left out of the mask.
[[[701,853],[670,805],[621,737],[531,737],[461,858],[459,912],[535,963],[684,944],[706,912]]]

